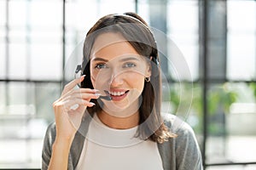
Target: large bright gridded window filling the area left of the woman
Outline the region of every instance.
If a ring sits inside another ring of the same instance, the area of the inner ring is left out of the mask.
[[[64,83],[63,62],[68,67],[82,53],[85,33],[99,17],[134,11],[135,3],[66,1],[65,9],[64,20],[63,1],[0,1],[0,168],[41,167],[52,103]]]

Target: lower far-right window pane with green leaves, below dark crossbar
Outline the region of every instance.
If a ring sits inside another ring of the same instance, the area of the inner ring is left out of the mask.
[[[246,83],[211,86],[207,163],[256,161],[255,87]]]

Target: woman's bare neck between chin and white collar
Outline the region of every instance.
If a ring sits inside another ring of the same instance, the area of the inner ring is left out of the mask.
[[[136,111],[134,114],[125,117],[112,116],[106,111],[101,111],[97,113],[99,119],[107,125],[108,127],[116,129],[128,129],[136,127],[139,124],[139,111]]]

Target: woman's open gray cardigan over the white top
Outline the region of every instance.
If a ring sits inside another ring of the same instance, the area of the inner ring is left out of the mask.
[[[68,157],[68,170],[74,170],[78,165],[80,154],[84,146],[90,124],[90,116],[84,117],[78,133],[73,139],[73,144]],[[195,139],[195,133],[186,122],[177,116],[167,114],[166,126],[172,133],[177,133],[177,138],[169,139],[163,144],[158,144],[164,170],[201,170],[201,151]],[[47,170],[51,156],[52,144],[55,141],[55,123],[51,123],[44,137],[44,148],[42,152],[42,170]]]

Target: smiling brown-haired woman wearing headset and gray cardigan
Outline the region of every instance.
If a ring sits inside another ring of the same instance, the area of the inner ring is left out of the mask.
[[[161,115],[157,46],[141,17],[98,20],[84,41],[82,72],[53,105],[42,169],[202,169],[191,128],[171,133],[177,117]]]

